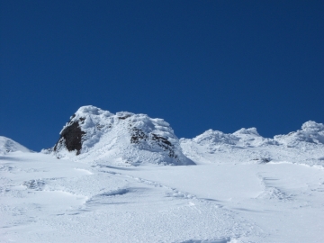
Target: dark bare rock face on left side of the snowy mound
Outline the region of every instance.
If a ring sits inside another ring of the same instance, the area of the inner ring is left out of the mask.
[[[60,138],[54,146],[54,151],[57,151],[63,145],[68,151],[76,150],[76,155],[79,155],[82,148],[81,139],[84,134],[85,131],[80,129],[78,121],[70,121],[67,127],[60,133]]]

